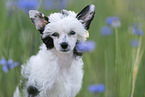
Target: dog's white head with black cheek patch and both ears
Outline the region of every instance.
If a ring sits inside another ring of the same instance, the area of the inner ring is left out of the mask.
[[[88,5],[78,14],[62,10],[46,17],[37,10],[30,10],[29,16],[42,34],[47,49],[55,48],[59,52],[74,50],[76,43],[88,37],[87,30],[93,20],[95,6]]]

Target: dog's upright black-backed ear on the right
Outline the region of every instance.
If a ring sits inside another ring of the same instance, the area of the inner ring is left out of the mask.
[[[95,6],[88,5],[81,12],[79,12],[76,16],[78,20],[82,20],[85,28],[88,30],[95,15]]]

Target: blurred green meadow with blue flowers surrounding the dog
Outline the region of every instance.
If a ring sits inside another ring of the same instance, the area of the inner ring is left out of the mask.
[[[145,0],[0,0],[0,97],[12,97],[21,64],[42,44],[28,11],[77,13],[88,4],[96,6],[88,38],[96,48],[84,53],[77,97],[145,97]]]

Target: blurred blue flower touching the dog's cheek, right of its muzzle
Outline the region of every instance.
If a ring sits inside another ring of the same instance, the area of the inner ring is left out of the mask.
[[[96,45],[94,41],[80,41],[77,43],[76,49],[80,52],[91,52],[95,49]]]

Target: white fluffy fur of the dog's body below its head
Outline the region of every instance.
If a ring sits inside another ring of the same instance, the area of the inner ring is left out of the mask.
[[[37,83],[41,91],[37,97],[75,97],[82,84],[82,66],[82,58],[74,59],[72,53],[50,51],[42,45],[38,54],[23,65],[22,76],[29,79],[26,86],[36,87]]]

